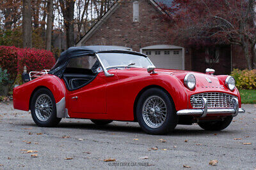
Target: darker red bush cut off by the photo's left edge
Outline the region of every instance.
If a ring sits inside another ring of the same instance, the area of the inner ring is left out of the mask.
[[[0,67],[7,69],[11,81],[14,81],[17,76],[18,49],[15,46],[0,46]]]

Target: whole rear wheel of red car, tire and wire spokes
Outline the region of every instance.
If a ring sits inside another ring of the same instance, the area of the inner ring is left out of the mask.
[[[42,88],[35,92],[31,99],[31,115],[36,125],[54,127],[61,118],[56,117],[56,103],[52,92]]]

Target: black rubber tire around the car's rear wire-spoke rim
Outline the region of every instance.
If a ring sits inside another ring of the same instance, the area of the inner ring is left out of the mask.
[[[38,97],[40,97],[42,95],[49,96],[48,99],[51,99],[51,103],[52,103],[52,111],[50,112],[49,118],[47,118],[45,121],[40,120],[40,117],[38,115],[36,115],[36,110],[35,110],[36,100],[38,99]],[[34,122],[36,123],[36,125],[38,125],[40,127],[55,127],[61,121],[61,118],[57,118],[56,115],[57,115],[56,114],[56,102],[55,102],[52,92],[46,88],[38,89],[31,99],[31,116],[32,116]]]

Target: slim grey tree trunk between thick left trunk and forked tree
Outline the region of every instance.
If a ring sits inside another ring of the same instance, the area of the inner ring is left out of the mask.
[[[51,51],[51,41],[52,41],[52,16],[53,16],[53,2],[52,0],[48,1],[47,8],[47,30],[46,30],[46,40],[45,40],[45,49]]]

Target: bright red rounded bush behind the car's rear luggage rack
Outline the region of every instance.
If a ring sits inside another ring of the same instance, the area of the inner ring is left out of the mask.
[[[23,67],[27,66],[27,71],[41,71],[51,69],[55,64],[55,58],[52,52],[47,50],[38,50],[35,48],[19,49],[18,54],[18,73],[23,72]]]

